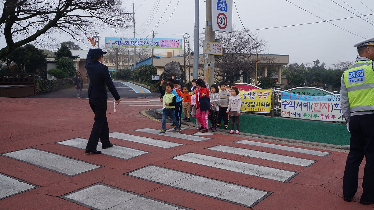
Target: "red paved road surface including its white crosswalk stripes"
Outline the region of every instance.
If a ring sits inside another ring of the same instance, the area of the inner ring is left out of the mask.
[[[86,99],[0,98],[0,209],[374,208],[358,203],[361,187],[343,201],[346,152],[188,126],[159,135],[160,122],[142,113],[162,105],[138,96],[122,95],[116,112],[108,100],[115,146],[99,143],[99,155],[84,151]]]

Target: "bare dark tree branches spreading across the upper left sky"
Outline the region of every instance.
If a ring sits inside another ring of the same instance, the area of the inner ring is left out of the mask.
[[[123,30],[131,21],[124,12],[121,0],[5,0],[0,28],[6,47],[0,58],[31,41],[45,40],[50,33],[80,41],[99,29]]]

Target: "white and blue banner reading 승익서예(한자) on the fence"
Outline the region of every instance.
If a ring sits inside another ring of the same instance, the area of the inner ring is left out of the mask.
[[[305,120],[344,122],[340,95],[303,96],[282,93],[281,116]]]

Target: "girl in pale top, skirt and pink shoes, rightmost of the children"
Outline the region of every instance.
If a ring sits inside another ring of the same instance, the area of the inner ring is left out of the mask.
[[[234,124],[236,123],[235,134],[239,134],[239,116],[242,115],[240,112],[240,107],[242,106],[242,98],[239,97],[239,90],[237,87],[231,89],[232,96],[229,98],[229,106],[227,106],[227,111],[231,116],[231,131],[230,134],[234,133]]]

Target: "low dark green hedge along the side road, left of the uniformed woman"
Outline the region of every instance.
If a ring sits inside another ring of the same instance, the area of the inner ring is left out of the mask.
[[[55,92],[73,86],[72,79],[35,80],[36,94]]]

